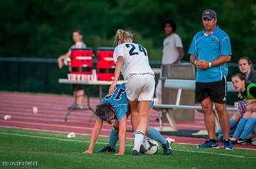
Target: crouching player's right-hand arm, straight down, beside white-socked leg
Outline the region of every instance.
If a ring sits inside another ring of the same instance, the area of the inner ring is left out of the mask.
[[[119,126],[119,153],[118,153],[118,155],[124,155],[126,126],[127,126],[127,116],[126,115],[119,122],[118,126]]]

